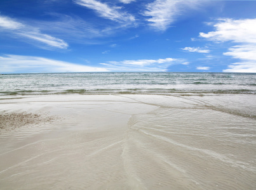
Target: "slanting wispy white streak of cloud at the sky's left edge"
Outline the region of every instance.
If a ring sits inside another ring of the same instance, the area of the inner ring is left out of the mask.
[[[20,39],[30,39],[34,42],[41,42],[44,46],[48,47],[56,47],[59,49],[67,49],[69,46],[62,39],[58,39],[57,37],[53,37],[48,34],[43,34],[40,32],[38,28],[32,27],[30,25],[25,25],[23,23],[17,22],[12,18],[7,16],[0,15],[0,32],[8,32],[8,34],[12,34],[18,36]]]

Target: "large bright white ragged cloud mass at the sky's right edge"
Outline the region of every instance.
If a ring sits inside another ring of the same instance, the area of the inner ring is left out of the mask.
[[[219,19],[212,23],[215,31],[207,34],[201,32],[200,37],[216,42],[233,42],[237,45],[229,47],[223,53],[241,61],[232,63],[224,72],[256,72],[256,18],[255,19]]]

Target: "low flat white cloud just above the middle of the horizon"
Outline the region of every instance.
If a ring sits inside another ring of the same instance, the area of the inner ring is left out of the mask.
[[[137,71],[137,72],[165,72],[168,66],[173,64],[185,64],[185,60],[165,58],[158,60],[124,60],[124,61],[108,61],[100,63],[107,66],[112,71]]]

